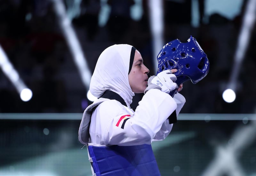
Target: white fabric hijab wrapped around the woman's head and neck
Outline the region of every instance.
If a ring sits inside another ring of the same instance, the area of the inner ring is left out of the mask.
[[[129,44],[114,44],[100,54],[90,83],[92,95],[99,98],[106,90],[116,92],[130,108],[135,95],[128,80],[131,50]]]

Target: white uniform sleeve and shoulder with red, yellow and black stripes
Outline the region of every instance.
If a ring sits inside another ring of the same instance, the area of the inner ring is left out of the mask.
[[[104,101],[92,115],[91,143],[120,146],[150,144],[176,108],[175,100],[158,89],[149,90],[135,112],[116,100]]]

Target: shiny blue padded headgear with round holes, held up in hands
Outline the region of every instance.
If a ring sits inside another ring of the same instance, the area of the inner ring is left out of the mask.
[[[157,74],[163,70],[177,69],[174,75],[177,76],[178,85],[189,79],[196,84],[209,72],[207,55],[192,36],[187,43],[181,43],[176,39],[165,44],[157,56],[157,61]],[[173,96],[175,93],[176,90],[170,92],[170,95]]]

